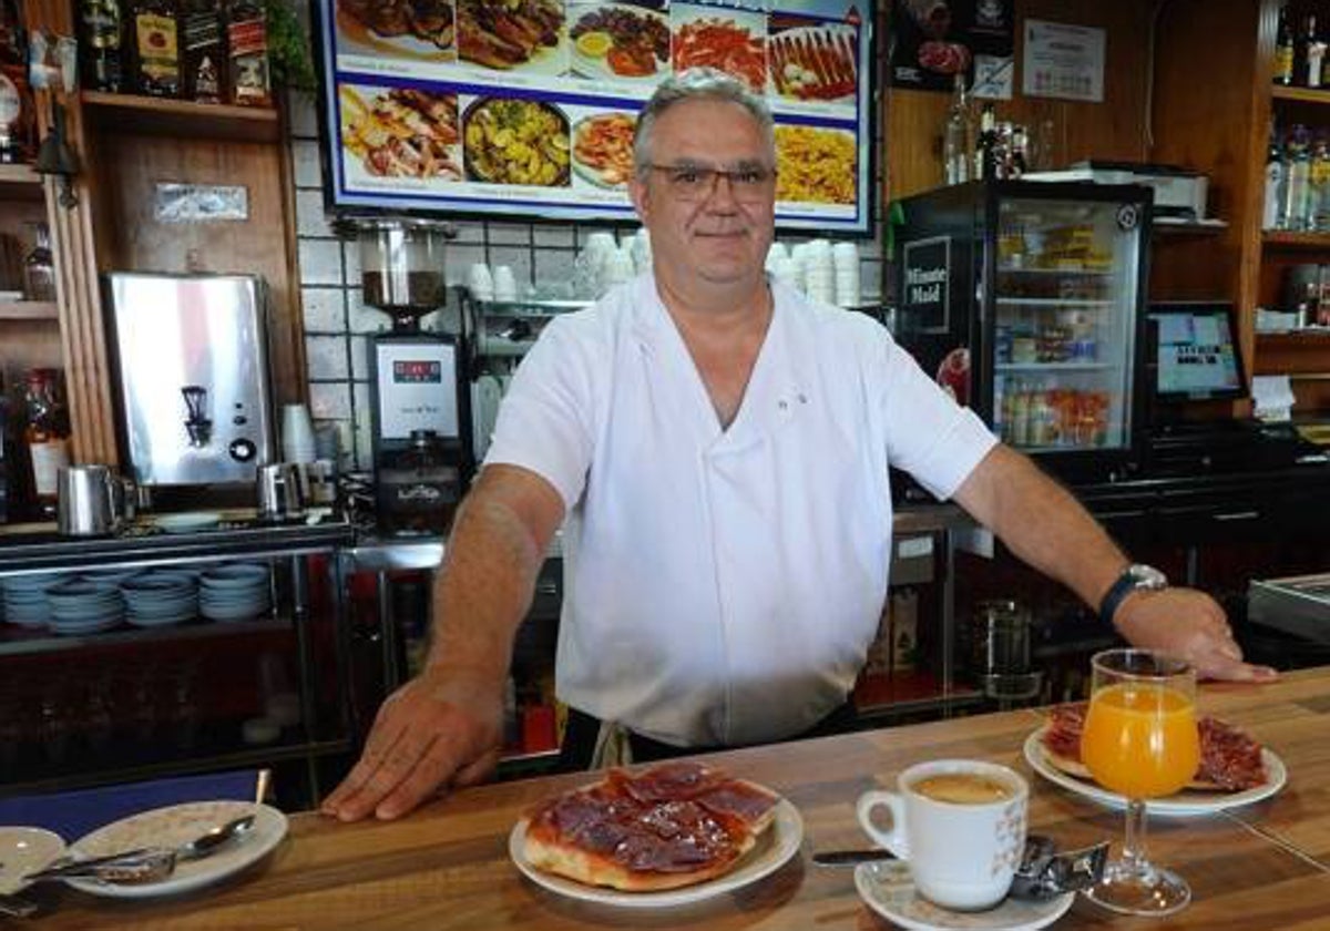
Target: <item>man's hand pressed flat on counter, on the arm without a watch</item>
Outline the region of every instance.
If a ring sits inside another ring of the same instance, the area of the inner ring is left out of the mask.
[[[501,734],[501,682],[426,669],[379,708],[360,761],[321,810],[342,821],[398,818],[436,789],[488,775]]]

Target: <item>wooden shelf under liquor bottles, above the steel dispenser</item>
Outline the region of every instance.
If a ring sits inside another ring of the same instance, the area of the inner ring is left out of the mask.
[[[84,90],[89,117],[117,132],[181,136],[241,142],[274,142],[279,133],[273,108],[194,104],[136,94]]]

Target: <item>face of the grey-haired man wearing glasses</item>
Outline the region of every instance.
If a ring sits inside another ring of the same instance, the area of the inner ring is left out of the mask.
[[[730,101],[676,104],[656,122],[652,164],[656,169],[634,178],[630,190],[665,283],[759,281],[771,246],[775,181],[753,116]]]

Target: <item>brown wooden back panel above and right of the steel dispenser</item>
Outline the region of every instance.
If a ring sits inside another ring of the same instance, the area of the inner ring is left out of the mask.
[[[114,166],[102,192],[102,222],[116,230],[101,254],[101,270],[259,274],[269,285],[269,350],[277,403],[303,399],[305,364],[299,287],[283,230],[289,194],[285,145],[218,144],[154,136],[101,137],[101,157]],[[153,217],[158,182],[243,185],[249,219],[162,223]],[[109,237],[108,237],[109,238]]]

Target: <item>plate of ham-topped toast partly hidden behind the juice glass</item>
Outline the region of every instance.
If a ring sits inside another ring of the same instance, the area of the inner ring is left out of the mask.
[[[1025,738],[1025,761],[1041,777],[1091,801],[1127,807],[1127,799],[1104,789],[1080,762],[1085,702],[1049,709],[1048,724]],[[1150,814],[1208,815],[1270,798],[1289,781],[1283,761],[1246,732],[1214,717],[1197,721],[1201,763],[1190,785],[1146,802]]]

